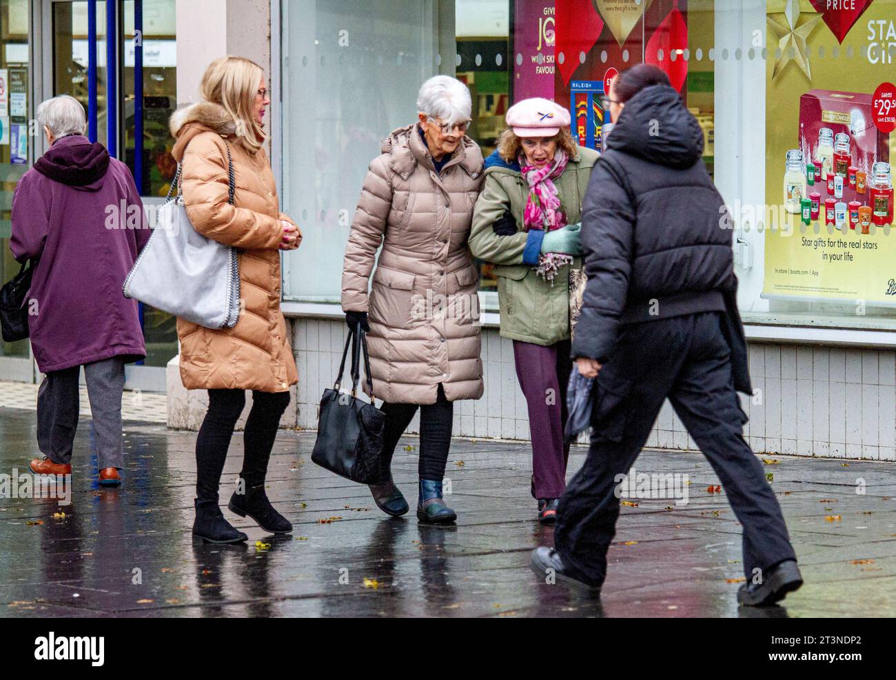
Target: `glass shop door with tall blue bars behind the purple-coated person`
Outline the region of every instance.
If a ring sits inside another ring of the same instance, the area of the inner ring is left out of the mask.
[[[161,203],[177,170],[168,134],[177,101],[175,0],[43,0],[41,24],[52,46],[43,98],[81,101],[90,139],[130,167],[144,205]],[[142,304],[140,316],[147,356],[127,366],[125,387],[165,391],[175,318]]]

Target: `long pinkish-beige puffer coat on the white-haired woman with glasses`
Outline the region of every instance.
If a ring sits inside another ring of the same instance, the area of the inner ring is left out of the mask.
[[[463,137],[441,174],[401,127],[370,164],[342,270],[342,309],[369,311],[375,397],[435,404],[482,397],[478,272],[467,238],[483,159]],[[369,300],[367,284],[382,244]]]

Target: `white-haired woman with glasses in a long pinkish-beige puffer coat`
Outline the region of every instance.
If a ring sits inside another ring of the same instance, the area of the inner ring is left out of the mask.
[[[442,499],[442,480],[453,405],[482,397],[478,271],[467,238],[483,159],[465,135],[466,85],[436,75],[420,88],[417,108],[418,122],[392,132],[370,164],[345,253],[342,309],[350,328],[369,331],[387,465],[419,407],[417,516],[451,523],[457,516]],[[409,510],[391,472],[370,491],[389,515]]]

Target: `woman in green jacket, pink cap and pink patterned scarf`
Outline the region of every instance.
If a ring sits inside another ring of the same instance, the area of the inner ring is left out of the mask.
[[[486,160],[470,250],[495,265],[501,336],[513,340],[529,406],[532,496],[538,518],[553,523],[569,455],[569,275],[582,266],[582,200],[598,153],[575,144],[569,112],[553,101],[522,100],[506,120],[509,129]]]

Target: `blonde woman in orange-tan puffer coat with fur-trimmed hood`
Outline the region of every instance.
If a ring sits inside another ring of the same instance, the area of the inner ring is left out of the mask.
[[[222,57],[202,77],[204,101],[171,117],[173,155],[182,164],[184,205],[196,231],[238,249],[240,304],[232,328],[211,329],[177,319],[180,376],[187,389],[207,389],[209,410],[196,440],[196,519],[193,533],[210,543],[246,540],[218,505],[230,438],[246,405],[243,469],[228,509],[265,531],[292,531],[264,493],[268,459],[289,386],[298,381],[280,313],[280,253],[297,248],[301,234],[280,213],[271,163],[264,153],[265,109],[271,104],[261,66]],[[228,154],[236,191],[228,201]]]

